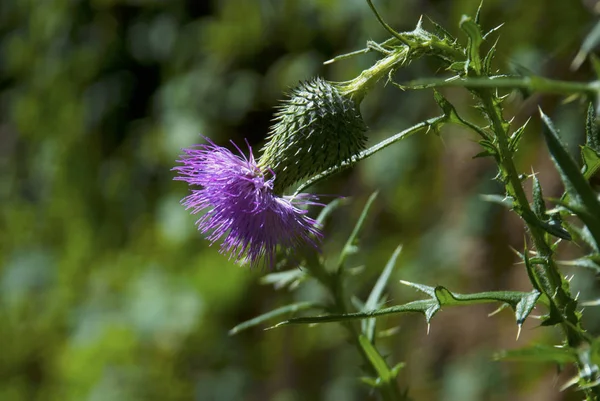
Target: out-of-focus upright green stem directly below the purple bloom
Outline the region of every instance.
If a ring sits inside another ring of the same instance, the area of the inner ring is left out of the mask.
[[[325,270],[323,264],[319,261],[318,255],[315,252],[307,252],[307,264],[313,276],[330,292],[333,298],[333,306],[336,313],[347,314],[348,306],[346,304],[346,295],[344,285],[342,283],[341,274],[331,274]],[[365,353],[363,347],[360,345],[359,336],[360,332],[356,328],[354,322],[343,322],[342,325],[348,330],[350,339],[359,354],[364,360],[364,363],[369,368],[369,374],[377,376],[377,370],[375,366],[371,364],[371,360]],[[384,401],[402,401],[400,389],[395,382],[383,382],[383,386],[379,388]]]

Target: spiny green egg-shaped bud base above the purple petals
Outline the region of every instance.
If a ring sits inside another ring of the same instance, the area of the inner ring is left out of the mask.
[[[275,173],[276,193],[364,149],[367,127],[341,88],[322,78],[301,82],[279,107],[258,161]]]

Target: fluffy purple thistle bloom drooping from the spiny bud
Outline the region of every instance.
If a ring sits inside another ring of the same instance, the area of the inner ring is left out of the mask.
[[[236,261],[248,259],[251,266],[264,257],[270,267],[278,245],[289,250],[318,248],[322,234],[317,222],[297,207],[319,205],[314,195],[275,195],[275,174],[256,163],[250,145],[248,158],[233,141],[240,156],[205,139],[208,144],[183,149],[177,161],[182,166],[173,170],[179,174],[176,180],[201,187],[192,189],[182,204],[192,214],[206,210],[196,224],[201,233],[208,233],[211,245],[224,237],[221,253]]]

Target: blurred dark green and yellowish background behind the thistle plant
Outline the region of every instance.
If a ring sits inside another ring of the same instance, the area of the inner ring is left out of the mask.
[[[458,22],[478,0],[377,1],[387,22],[412,29],[426,14],[461,40]],[[497,67],[593,79],[570,69],[597,20],[594,2],[487,0],[484,27],[501,23]],[[179,150],[199,134],[226,145],[264,143],[273,107],[298,81],[355,77],[373,54],[324,66],[386,32],[362,0],[2,0],[0,2],[0,400],[365,400],[360,360],[335,324],[266,325],[236,336],[237,323],[298,300],[324,297],[261,285],[265,271],[210,248],[179,205]],[[489,44],[488,44],[489,45]],[[443,74],[421,60],[400,82]],[[477,121],[471,97],[444,92]],[[583,141],[581,102],[547,96],[507,100],[515,125],[542,105],[574,154]],[[429,91],[378,85],[362,112],[369,140],[439,114]],[[326,226],[335,258],[368,198],[379,197],[350,262],[364,266],[350,289],[364,299],[394,248],[404,251],[389,303],[417,299],[399,279],[453,291],[529,290],[511,251],[522,223],[479,194],[500,193],[495,167],[471,133],[418,135],[315,192],[349,197]],[[534,117],[518,154],[547,196],[562,189]],[[316,214],[318,211],[312,211]],[[566,246],[561,257],[576,255]],[[594,276],[573,292],[596,296]],[[530,319],[515,340],[514,316],[494,307],[441,312],[429,334],[420,316],[379,319],[379,340],[413,399],[581,399],[559,387],[573,372],[494,362],[495,351],[560,335]],[[274,321],[273,323],[276,323]],[[598,333],[600,318],[585,313]]]

